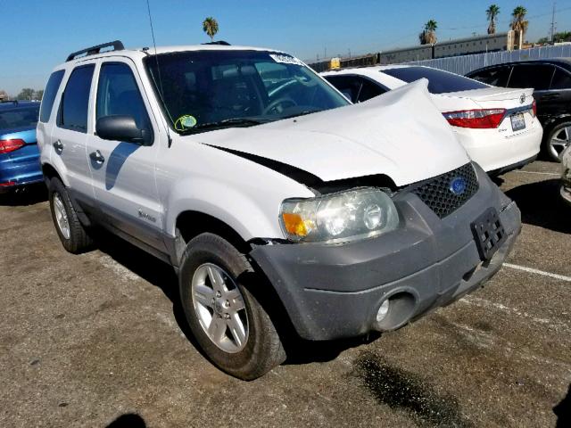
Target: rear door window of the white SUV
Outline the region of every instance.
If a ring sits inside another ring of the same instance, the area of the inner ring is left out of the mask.
[[[83,65],[71,72],[60,103],[58,127],[87,133],[89,91],[95,65]]]

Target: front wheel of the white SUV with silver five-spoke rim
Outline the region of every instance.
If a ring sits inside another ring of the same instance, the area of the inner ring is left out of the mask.
[[[244,381],[285,361],[276,327],[252,294],[255,284],[246,284],[255,282],[244,279],[252,274],[248,260],[231,243],[204,233],[187,244],[178,275],[182,307],[196,342],[215,366]],[[242,330],[233,331],[240,322]],[[209,330],[214,323],[221,326]]]

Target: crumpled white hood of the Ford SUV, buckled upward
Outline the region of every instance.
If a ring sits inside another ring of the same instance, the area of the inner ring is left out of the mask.
[[[323,181],[385,174],[401,186],[469,161],[434,107],[426,79],[365,103],[193,139],[282,162]]]

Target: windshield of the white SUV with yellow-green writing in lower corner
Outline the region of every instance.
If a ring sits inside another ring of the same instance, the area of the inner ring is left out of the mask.
[[[349,103],[285,53],[162,53],[147,56],[145,66],[172,127],[181,134],[253,126]]]

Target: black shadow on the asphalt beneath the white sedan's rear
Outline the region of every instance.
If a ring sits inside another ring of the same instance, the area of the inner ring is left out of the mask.
[[[506,194],[517,203],[523,223],[571,234],[571,208],[562,201],[559,186],[559,180],[545,180],[519,185]]]

